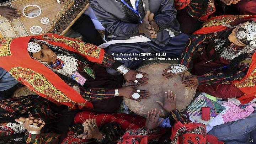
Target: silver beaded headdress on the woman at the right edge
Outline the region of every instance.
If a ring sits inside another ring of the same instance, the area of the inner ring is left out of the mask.
[[[241,23],[238,25],[240,28],[244,28],[244,31],[238,31],[236,33],[236,37],[240,39],[244,39],[245,37],[247,41],[250,42],[250,45],[256,47],[256,22],[255,21],[247,21],[245,23]]]

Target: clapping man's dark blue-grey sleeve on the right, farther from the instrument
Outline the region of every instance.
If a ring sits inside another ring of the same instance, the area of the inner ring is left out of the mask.
[[[162,4],[154,20],[159,26],[159,31],[171,27],[172,22],[176,19],[177,10],[174,7],[174,0],[162,0]]]

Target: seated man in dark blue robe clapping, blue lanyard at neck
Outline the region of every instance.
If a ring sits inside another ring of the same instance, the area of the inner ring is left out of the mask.
[[[138,57],[133,55],[135,53],[151,53],[151,57],[156,57],[156,53],[166,53],[166,57],[179,58],[189,38],[180,32],[173,0],[91,0],[90,5],[106,28],[106,41],[124,40],[106,48],[106,52],[116,58]],[[148,10],[150,15],[146,14]],[[145,30],[148,24],[150,26]],[[136,36],[144,36],[149,40],[125,42]],[[114,55],[118,53],[132,53],[132,56]],[[136,68],[143,62],[130,59],[118,61],[128,68]],[[113,69],[107,71],[113,75],[118,74]]]

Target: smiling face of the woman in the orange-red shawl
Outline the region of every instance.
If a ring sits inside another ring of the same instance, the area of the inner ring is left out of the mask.
[[[49,64],[57,59],[57,54],[48,48],[45,44],[38,43],[41,46],[41,50],[37,53],[33,53],[33,57],[41,60],[42,62],[48,62]]]

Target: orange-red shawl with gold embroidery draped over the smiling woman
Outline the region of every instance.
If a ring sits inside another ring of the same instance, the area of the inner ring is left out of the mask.
[[[91,62],[102,63],[104,50],[89,43],[75,39],[58,36],[56,34],[45,34],[33,36],[80,53]],[[32,36],[18,38],[3,38],[0,40],[0,67],[4,68],[18,81],[26,85],[38,95],[64,105],[74,107],[93,108],[92,103],[85,101],[78,92],[72,89],[52,70],[30,57],[27,51],[28,42]]]

